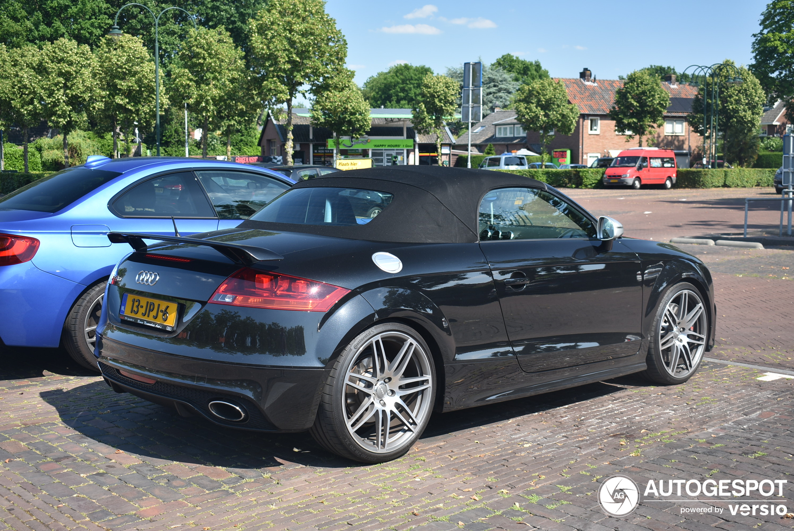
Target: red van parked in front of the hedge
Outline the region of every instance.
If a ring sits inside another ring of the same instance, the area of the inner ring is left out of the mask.
[[[603,185],[630,186],[661,184],[669,190],[676,183],[676,155],[669,149],[629,148],[620,152],[603,174]]]

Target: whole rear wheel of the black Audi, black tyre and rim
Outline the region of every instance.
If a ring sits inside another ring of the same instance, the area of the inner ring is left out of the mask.
[[[401,352],[402,361],[397,363]],[[383,358],[385,363],[376,365],[375,360]],[[399,383],[403,379],[414,381]],[[426,428],[435,381],[433,356],[421,335],[401,323],[375,325],[353,339],[334,362],[309,433],[329,452],[351,460],[396,459]],[[381,429],[386,425],[389,429]]]

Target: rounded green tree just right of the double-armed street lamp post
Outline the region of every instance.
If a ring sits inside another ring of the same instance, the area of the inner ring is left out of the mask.
[[[188,32],[172,67],[173,102],[187,102],[188,109],[200,117],[202,156],[207,155],[210,127],[224,125],[222,113],[230,107],[227,100],[237,98],[233,93],[240,87],[241,59],[242,52],[228,32],[199,27]]]

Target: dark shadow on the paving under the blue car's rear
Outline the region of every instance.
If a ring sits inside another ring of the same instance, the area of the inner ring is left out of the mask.
[[[72,360],[64,348],[8,347],[0,344],[0,380],[41,378],[50,375],[95,376]]]

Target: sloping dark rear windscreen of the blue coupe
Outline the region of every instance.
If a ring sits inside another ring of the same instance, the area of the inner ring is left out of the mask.
[[[118,171],[67,168],[0,198],[0,210],[56,213],[121,175]]]

